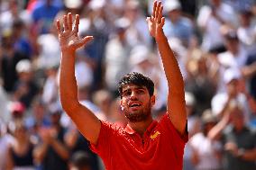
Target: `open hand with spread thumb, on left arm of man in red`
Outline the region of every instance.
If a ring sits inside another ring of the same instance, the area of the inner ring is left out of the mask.
[[[73,28],[72,14],[63,16],[63,27],[64,31],[60,29],[60,22],[57,20],[57,30],[59,33],[59,44],[61,50],[75,51],[76,49],[84,46],[87,41],[92,40],[93,36],[86,36],[81,39],[78,38],[78,24],[79,24],[79,15],[76,15],[75,25]]]

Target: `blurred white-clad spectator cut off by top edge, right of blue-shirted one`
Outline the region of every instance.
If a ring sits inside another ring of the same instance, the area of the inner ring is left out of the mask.
[[[236,20],[233,8],[224,4],[222,0],[210,0],[209,4],[201,7],[197,16],[197,25],[203,34],[202,49],[224,51],[224,37],[221,29],[224,26],[233,28]]]

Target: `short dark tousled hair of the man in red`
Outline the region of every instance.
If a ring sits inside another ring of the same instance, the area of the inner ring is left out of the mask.
[[[149,78],[148,76],[144,76],[141,73],[132,72],[123,76],[123,78],[118,83],[118,92],[121,98],[123,94],[123,86],[125,85],[145,86],[151,96],[154,94],[153,81],[151,80],[151,78]]]

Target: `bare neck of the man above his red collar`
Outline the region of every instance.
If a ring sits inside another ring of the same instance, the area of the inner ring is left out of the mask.
[[[135,130],[137,133],[139,133],[141,136],[143,136],[144,132],[147,130],[147,128],[150,126],[151,122],[153,121],[152,117],[150,116],[145,121],[139,121],[139,122],[131,122],[129,121],[129,126]]]

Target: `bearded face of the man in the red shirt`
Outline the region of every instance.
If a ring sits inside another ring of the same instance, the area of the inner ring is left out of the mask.
[[[145,121],[151,117],[155,96],[150,96],[145,86],[126,85],[123,87],[121,107],[131,122]]]

